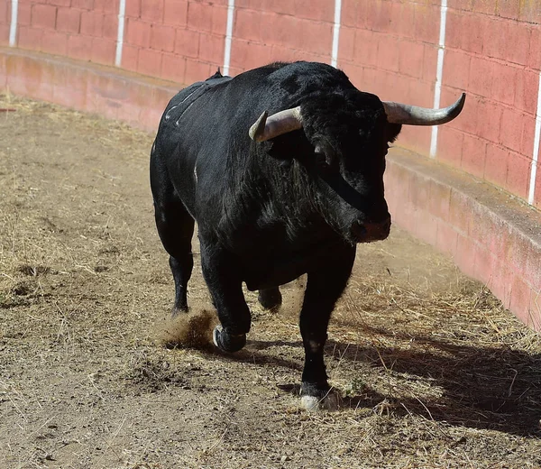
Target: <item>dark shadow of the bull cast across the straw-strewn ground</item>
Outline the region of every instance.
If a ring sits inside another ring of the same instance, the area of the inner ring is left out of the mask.
[[[368,329],[376,335],[387,333],[370,326]],[[394,338],[397,336],[393,334]],[[350,390],[350,396],[344,398],[345,407],[375,408],[376,411],[389,411],[393,415],[413,413],[450,425],[495,429],[520,436],[541,436],[541,354],[486,345],[455,345],[422,335],[403,338],[430,346],[425,351],[405,351],[386,345],[327,341],[326,361],[330,365],[331,378],[340,374],[340,368],[353,364],[353,379],[362,382],[361,389],[353,390],[353,396]],[[265,352],[276,346],[302,350],[300,341],[252,340],[248,341],[247,349],[241,354],[222,355],[220,359],[294,369],[298,370],[300,379],[301,361]],[[334,370],[333,361],[342,364]],[[364,379],[367,373],[374,371],[388,373],[393,382],[398,382],[395,390],[400,380],[428,379],[443,392],[438,397],[427,397],[414,396],[413,393],[408,396],[408,392],[395,393],[392,386],[389,391],[376,391]],[[280,388],[298,394],[297,383]]]

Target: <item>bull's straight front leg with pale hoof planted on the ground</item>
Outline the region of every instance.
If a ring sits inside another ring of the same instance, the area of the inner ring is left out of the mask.
[[[308,410],[335,409],[337,403],[327,382],[323,353],[331,313],[352,272],[355,247],[343,246],[337,251],[333,252],[333,259],[308,272],[300,311],[300,334],[305,349],[300,395],[302,406]]]

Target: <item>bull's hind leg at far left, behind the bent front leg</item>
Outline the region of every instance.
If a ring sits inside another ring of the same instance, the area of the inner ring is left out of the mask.
[[[154,156],[154,155],[152,155]],[[177,196],[169,177],[151,160],[151,189],[154,216],[161,244],[170,254],[170,268],[175,280],[175,303],[172,315],[188,311],[188,280],[194,267],[191,239],[194,220]]]

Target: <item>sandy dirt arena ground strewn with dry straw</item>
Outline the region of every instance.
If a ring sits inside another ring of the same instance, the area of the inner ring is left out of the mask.
[[[277,314],[248,294],[242,352],[165,348],[151,136],[0,108],[0,467],[541,467],[539,336],[429,246],[359,246],[326,346],[342,408],[307,413],[302,279]]]

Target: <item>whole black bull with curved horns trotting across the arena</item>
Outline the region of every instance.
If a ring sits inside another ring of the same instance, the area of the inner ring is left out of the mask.
[[[221,323],[214,342],[226,352],[240,350],[250,330],[243,282],[274,308],[279,286],[307,273],[301,395],[316,407],[329,394],[326,331],[355,244],[390,231],[383,191],[389,143],[401,124],[448,122],[463,100],[438,110],[383,103],[342,71],[307,62],[235,78],[216,73],[180,91],[151,151],[156,225],[175,281],[173,315],[188,311],[195,221]]]

